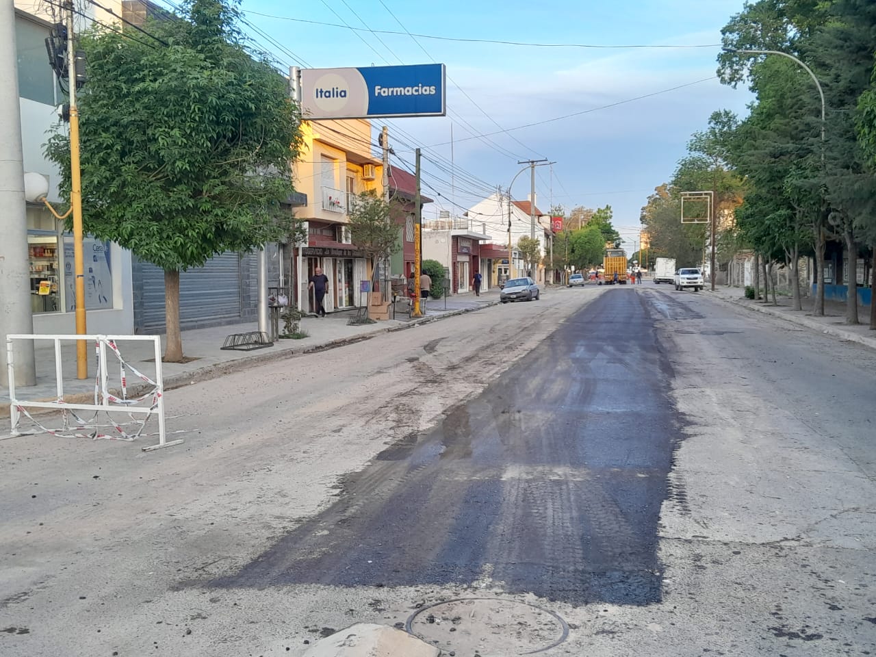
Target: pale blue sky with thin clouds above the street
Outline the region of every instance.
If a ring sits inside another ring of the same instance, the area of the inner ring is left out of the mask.
[[[413,171],[413,149],[422,149],[423,192],[435,199],[425,218],[462,215],[506,189],[525,166],[519,160],[548,159],[537,169],[538,207],[611,205],[632,253],[640,209],[672,177],[691,135],[717,109],[747,112],[749,92],[715,76],[720,30],[743,4],[242,0],[240,9],[244,32],[281,67],[446,66],[446,117],[372,122],[375,142],[388,126],[392,166]],[[521,173],[513,198],[529,193],[529,172]],[[498,226],[488,232],[504,238]]]

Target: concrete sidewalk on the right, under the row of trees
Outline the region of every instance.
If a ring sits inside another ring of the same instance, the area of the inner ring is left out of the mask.
[[[847,340],[852,343],[864,344],[865,346],[876,349],[876,331],[870,330],[870,307],[858,307],[858,325],[850,325],[845,323],[845,304],[840,301],[824,301],[824,316],[819,317],[812,314],[812,298],[803,298],[803,309],[793,310],[791,307],[791,299],[789,297],[779,296],[777,301],[778,306],[774,306],[773,302],[768,303],[763,300],[755,301],[745,299],[745,290],[741,287],[724,287],[715,288],[715,292],[710,292],[708,288],[703,290],[701,294],[710,294],[713,298],[734,303],[740,307],[745,307],[752,312],[771,314],[774,317],[780,317],[785,321],[790,321],[798,326],[806,327],[823,333],[827,336],[837,337],[840,340]]]

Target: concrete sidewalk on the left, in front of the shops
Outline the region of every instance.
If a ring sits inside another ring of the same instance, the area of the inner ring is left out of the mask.
[[[430,299],[427,303],[425,316],[411,318],[408,314],[400,311],[396,319],[378,321],[373,324],[350,325],[348,321],[354,312],[329,314],[325,318],[305,317],[301,320],[301,330],[308,336],[300,340],[279,340],[272,347],[251,351],[223,350],[222,346],[226,336],[232,333],[245,333],[258,330],[258,325],[253,323],[232,324],[227,326],[213,327],[210,329],[192,329],[182,331],[183,353],[188,359],[186,363],[163,363],[163,378],[165,390],[170,390],[180,385],[189,385],[209,378],[222,376],[230,371],[243,370],[257,364],[269,363],[281,358],[293,357],[311,351],[319,351],[339,347],[343,344],[355,343],[367,340],[380,333],[387,331],[411,328],[418,324],[436,321],[456,314],[469,313],[484,307],[498,303],[498,290],[490,293],[482,293],[480,297],[474,294],[463,294],[449,297],[446,301]],[[390,315],[392,316],[392,314]],[[166,336],[160,336],[162,353],[166,343]],[[118,339],[118,348],[124,361],[131,364],[145,376],[155,378],[155,354],[151,342],[128,341]],[[55,358],[53,343],[38,341],[36,343],[37,385],[18,386],[16,396],[18,399],[28,400],[53,400],[57,399],[55,385]],[[120,374],[116,358],[109,354],[109,387],[113,390],[120,386]],[[63,367],[64,398],[69,402],[86,401],[95,392],[96,357],[93,344],[88,344],[88,377],[77,379],[76,376],[76,351],[75,342],[62,343],[61,364]],[[5,373],[4,373],[5,377]],[[131,381],[137,378],[129,370],[129,395],[137,394],[138,388],[144,390],[143,385],[131,385]],[[9,390],[6,388],[6,379],[3,381],[3,396],[0,398],[0,416],[9,415]],[[151,387],[151,386],[150,386]]]

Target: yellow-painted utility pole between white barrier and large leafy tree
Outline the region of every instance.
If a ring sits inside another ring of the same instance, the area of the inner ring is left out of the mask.
[[[85,267],[82,256],[82,182],[79,163],[79,109],[76,108],[76,49],[73,32],[73,0],[67,10],[67,87],[70,101],[70,205],[73,208],[73,271],[76,293],[76,335],[88,333],[85,320]],[[88,378],[88,346],[76,341],[76,378]]]

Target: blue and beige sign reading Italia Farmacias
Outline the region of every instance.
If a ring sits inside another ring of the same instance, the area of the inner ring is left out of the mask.
[[[305,118],[443,117],[443,64],[402,67],[305,68],[300,102]]]

